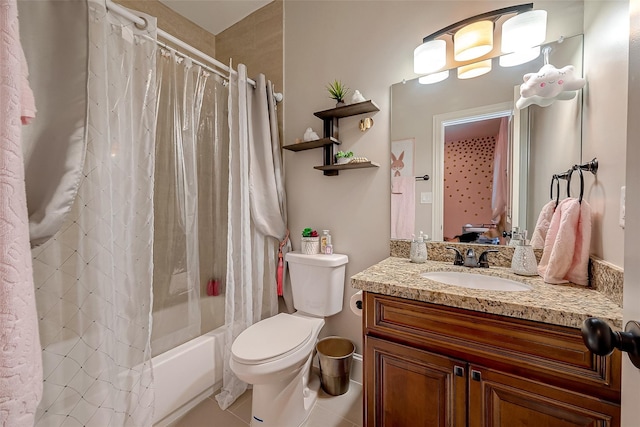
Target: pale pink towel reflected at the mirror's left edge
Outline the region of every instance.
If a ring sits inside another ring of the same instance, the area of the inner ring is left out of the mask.
[[[413,176],[391,178],[391,238],[410,239],[415,228],[415,186]]]

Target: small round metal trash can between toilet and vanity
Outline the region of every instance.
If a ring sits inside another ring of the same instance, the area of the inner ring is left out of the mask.
[[[327,337],[316,344],[322,389],[332,396],[349,391],[349,374],[356,346],[346,338]]]

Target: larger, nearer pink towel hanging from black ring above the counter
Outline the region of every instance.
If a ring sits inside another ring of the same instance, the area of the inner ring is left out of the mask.
[[[556,208],[544,242],[538,274],[547,283],[588,284],[591,209],[569,198]]]

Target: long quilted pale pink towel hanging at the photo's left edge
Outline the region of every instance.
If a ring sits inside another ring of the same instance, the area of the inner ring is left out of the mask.
[[[42,396],[21,143],[21,117],[35,108],[23,58],[16,0],[0,0],[0,425],[12,427],[33,426]]]

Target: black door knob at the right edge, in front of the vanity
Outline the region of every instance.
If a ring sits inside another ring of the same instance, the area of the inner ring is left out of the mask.
[[[599,356],[608,356],[616,348],[628,354],[633,365],[640,369],[640,323],[630,321],[625,332],[618,332],[602,319],[590,317],[582,323],[582,340],[587,348]]]

